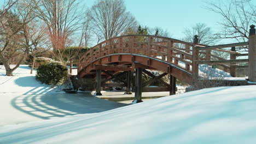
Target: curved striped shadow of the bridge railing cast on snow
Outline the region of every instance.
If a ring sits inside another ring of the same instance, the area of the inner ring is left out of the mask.
[[[56,93],[20,95],[11,105],[27,115],[42,119],[65,117],[85,113],[97,113],[116,109],[127,104],[94,97],[92,94]]]

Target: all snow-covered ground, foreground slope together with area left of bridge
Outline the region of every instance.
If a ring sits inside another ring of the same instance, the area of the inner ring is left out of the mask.
[[[29,71],[22,65],[8,77],[0,69],[1,121],[23,118],[2,124],[0,143],[256,141],[256,86],[201,89],[120,107],[92,96],[65,95],[37,82]],[[23,123],[28,119],[33,122]]]

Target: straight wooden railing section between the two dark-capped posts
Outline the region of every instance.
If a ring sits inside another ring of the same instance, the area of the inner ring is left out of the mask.
[[[231,76],[236,77],[236,68],[248,68],[248,47],[248,42],[216,46],[195,44],[195,51],[198,53],[194,59],[195,67],[198,68],[199,64],[219,65]],[[237,49],[243,49],[243,52],[236,52]],[[224,57],[218,56],[223,53]],[[241,56],[246,56],[246,58],[238,58]]]

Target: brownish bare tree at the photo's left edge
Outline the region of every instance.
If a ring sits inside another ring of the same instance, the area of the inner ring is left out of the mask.
[[[13,75],[13,71],[19,67],[28,53],[26,29],[27,23],[33,19],[32,9],[26,0],[23,0],[16,2],[15,7],[9,9],[2,16],[0,22],[0,60],[3,62],[8,76]],[[17,56],[20,56],[19,61],[14,68],[10,68],[10,59]]]

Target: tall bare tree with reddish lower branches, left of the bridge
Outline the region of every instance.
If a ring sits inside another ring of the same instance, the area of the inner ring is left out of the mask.
[[[45,22],[51,44],[54,49],[54,57],[60,61],[63,59],[63,49],[73,41],[71,36],[78,30],[81,24],[82,11],[78,10],[77,0],[32,0],[37,16]]]

